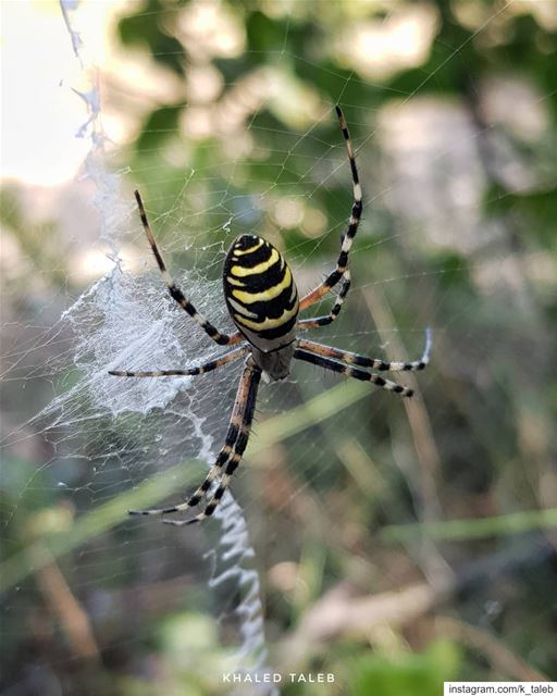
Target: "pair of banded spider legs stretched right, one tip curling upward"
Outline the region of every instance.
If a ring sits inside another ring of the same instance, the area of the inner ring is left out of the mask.
[[[430,362],[431,352],[431,330],[425,331],[425,347],[420,360],[413,360],[411,362],[385,362],[379,358],[368,358],[367,356],[360,356],[356,352],[349,352],[347,350],[339,350],[332,346],[323,346],[313,340],[300,339],[298,347],[294,352],[294,357],[297,360],[309,362],[313,365],[325,368],[332,372],[338,372],[347,377],[354,377],[361,382],[371,382],[377,387],[394,391],[400,396],[411,397],[413,389],[409,387],[403,387],[396,382],[385,380],[379,374],[373,372],[366,372],[361,368],[368,368],[370,370],[379,370],[380,372],[418,372],[423,370]],[[355,366],[356,365],[356,366]]]

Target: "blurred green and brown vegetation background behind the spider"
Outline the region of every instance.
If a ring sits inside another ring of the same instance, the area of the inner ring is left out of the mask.
[[[322,277],[351,204],[337,102],[364,215],[349,301],[312,338],[417,359],[430,325],[434,345],[401,380],[411,402],[318,370],[262,393],[234,492],[268,663],[286,696],[557,679],[556,33],[545,0],[114,3],[102,157],[125,229],[99,222],[114,201],[84,212],[107,186],[90,169],[77,203],[59,188],[41,208],[48,191],[16,179],[2,192],[2,693],[251,693],[222,683],[237,598],[208,585],[218,523],[125,519],[201,468],[119,459],[139,419],[57,435],[34,415],[79,378],[57,322],[99,258],[124,245],[125,272],[145,272],[135,186],[173,269],[218,283],[232,238],[256,231],[302,289]],[[236,375],[210,406],[213,449]],[[172,438],[171,414],[152,418],[149,437]]]

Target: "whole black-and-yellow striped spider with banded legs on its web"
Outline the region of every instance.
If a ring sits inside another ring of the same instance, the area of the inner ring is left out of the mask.
[[[346,232],[342,236],[336,266],[311,293],[299,299],[296,283],[281,252],[272,244],[257,235],[242,235],[231,246],[223,268],[224,300],[231,318],[238,328],[232,335],[223,334],[215,328],[196,310],[174,283],[154,241],[139,191],[135,191],[147,239],[171,297],[216,344],[220,346],[239,345],[215,360],[187,370],[157,370],[154,372],[111,370],[110,374],[119,377],[199,375],[222,368],[244,356],[246,356],[246,361],[224,445],[201,485],[184,502],[159,509],[129,510],[129,514],[165,515],[184,512],[198,506],[205,498],[205,510],[196,517],[189,520],[164,519],[163,522],[181,526],[200,522],[211,515],[224,496],[248,444],[261,376],[264,375],[273,381],[284,380],[289,374],[293,359],[338,372],[347,377],[371,382],[377,387],[404,397],[412,396],[412,389],[385,380],[370,370],[380,372],[423,370],[429,362],[431,347],[429,330],[423,356],[413,362],[385,362],[381,359],[367,358],[332,346],[324,346],[297,335],[298,332],[331,324],[338,316],[350,288],[348,253],[361,217],[362,194],[348,127],[341,108],[337,105],[335,109],[348,153],[354,190],[351,215]],[[329,314],[312,319],[298,319],[298,313],[301,310],[318,302],[341,282],[336,301]]]

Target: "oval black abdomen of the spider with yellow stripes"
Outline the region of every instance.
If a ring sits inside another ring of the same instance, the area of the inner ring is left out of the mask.
[[[272,244],[243,235],[224,261],[224,298],[232,319],[263,352],[294,340],[298,290],[286,261]]]

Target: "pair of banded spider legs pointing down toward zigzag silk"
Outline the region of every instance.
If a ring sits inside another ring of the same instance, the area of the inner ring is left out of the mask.
[[[198,514],[193,520],[164,520],[164,522],[166,522],[168,524],[182,526],[183,524],[199,522],[206,517],[209,517],[213,513],[214,508],[219,505],[219,501],[228,487],[230,480],[232,478],[234,471],[239,464],[248,444],[249,432],[251,428],[251,422],[253,420],[253,412],[256,408],[257,390],[260,380],[261,370],[255,364],[252,358],[248,358],[246,368],[244,369],[240,377],[238,390],[236,393],[236,399],[234,401],[234,408],[232,411],[232,417],[224,445],[219,452],[213,465],[209,470],[209,473],[207,474],[205,481],[197,488],[197,490],[195,490],[195,493],[189,496],[189,498],[185,502],[160,509],[129,510],[129,514],[170,514],[172,512],[184,512],[189,508],[195,508],[197,505],[199,505],[203,496],[209,493],[213,482],[219,477],[224,467],[226,465],[219,486],[209,500],[203,512]]]

